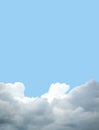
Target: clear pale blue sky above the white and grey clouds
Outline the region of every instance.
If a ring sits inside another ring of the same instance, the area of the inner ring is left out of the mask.
[[[99,81],[98,0],[0,1],[0,81],[39,96],[50,84]]]

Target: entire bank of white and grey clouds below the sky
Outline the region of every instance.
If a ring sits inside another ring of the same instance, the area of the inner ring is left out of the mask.
[[[22,83],[0,83],[0,130],[98,130],[99,83],[69,90],[52,84],[41,97],[26,97]]]

